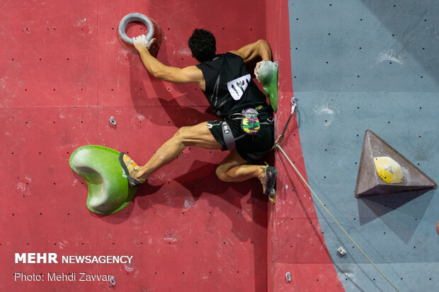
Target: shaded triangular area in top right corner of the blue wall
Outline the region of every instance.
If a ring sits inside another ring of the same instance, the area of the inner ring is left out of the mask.
[[[438,1],[361,1],[399,40],[396,50],[409,52],[439,84]]]

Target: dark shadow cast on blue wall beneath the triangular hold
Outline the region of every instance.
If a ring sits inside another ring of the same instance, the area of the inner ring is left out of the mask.
[[[428,189],[358,199],[360,225],[380,218],[404,243],[409,243],[435,194],[435,190],[426,192]],[[416,208],[413,204],[410,208],[404,206],[421,195],[423,199],[418,200]],[[392,216],[386,216],[390,212]]]

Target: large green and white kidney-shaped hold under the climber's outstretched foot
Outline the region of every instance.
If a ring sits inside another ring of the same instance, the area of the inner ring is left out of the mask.
[[[119,163],[119,152],[98,145],[77,148],[69,159],[75,173],[89,185],[87,208],[96,214],[113,214],[130,204],[137,187],[131,187]]]

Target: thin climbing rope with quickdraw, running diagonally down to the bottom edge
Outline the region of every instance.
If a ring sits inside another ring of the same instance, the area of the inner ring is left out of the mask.
[[[296,171],[297,175],[299,175],[299,177],[302,179],[302,182],[304,182],[304,184],[308,187],[308,189],[311,191],[312,195],[317,199],[317,201],[319,201],[319,203],[321,204],[321,206],[324,208],[324,210],[326,211],[326,213],[329,214],[329,216],[331,216],[332,220],[338,225],[338,227],[343,231],[343,233],[345,233],[345,235],[349,238],[349,240],[353,243],[353,245],[355,245],[355,247],[357,247],[358,250],[360,250],[360,252],[363,254],[363,256],[370,262],[370,264],[372,264],[372,266],[378,271],[380,272],[380,274],[384,277],[384,279],[386,279],[387,282],[389,282],[390,285],[392,285],[392,287],[399,292],[398,288],[396,286],[394,286],[394,284],[392,283],[392,281],[390,281],[387,276],[385,276],[382,271],[380,269],[378,269],[377,266],[375,266],[375,264],[372,262],[372,259],[370,259],[369,257],[367,257],[367,255],[365,254],[365,252],[363,252],[363,250],[358,246],[357,243],[355,243],[355,240],[353,240],[353,238],[350,237],[350,235],[346,232],[346,230],[340,225],[340,223],[338,223],[337,219],[331,214],[331,211],[329,211],[328,208],[326,208],[326,206],[323,204],[323,202],[321,202],[319,196],[317,196],[317,194],[314,192],[314,190],[308,185],[307,181],[304,179],[304,177],[302,176],[302,174],[300,173],[299,170],[297,170],[297,168],[295,167],[295,165],[291,162],[290,158],[287,156],[287,153],[285,153],[285,151],[283,151],[283,148],[280,147],[280,143],[282,143],[283,141],[283,137],[285,136],[285,130],[287,129],[288,124],[290,123],[290,119],[292,117],[292,114],[294,113],[295,107],[296,107],[296,103],[294,98],[292,98],[291,100],[292,103],[292,109],[291,109],[291,114],[290,117],[288,118],[287,124],[285,124],[285,127],[283,129],[282,134],[278,137],[278,139],[275,141],[275,148],[278,148],[283,155],[285,156],[285,158],[287,158],[288,162],[290,163],[290,165],[292,166],[292,168],[294,168],[294,170]],[[280,143],[278,143],[278,141],[280,141]]]

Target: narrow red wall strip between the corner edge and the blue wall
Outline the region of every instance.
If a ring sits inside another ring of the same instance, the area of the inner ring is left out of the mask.
[[[274,48],[273,59],[280,63],[278,133],[290,115],[293,96],[290,34],[285,30],[287,4],[287,1],[276,1],[266,11],[267,39]],[[297,98],[300,110],[300,96]],[[306,178],[296,113],[281,146]],[[278,199],[268,209],[268,291],[344,291],[326,248],[309,189],[280,151],[275,152],[275,160],[279,170]],[[288,272],[291,281],[285,277]]]

